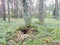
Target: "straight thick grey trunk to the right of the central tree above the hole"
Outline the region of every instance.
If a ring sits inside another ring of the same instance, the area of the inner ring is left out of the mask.
[[[38,18],[40,23],[44,23],[44,0],[39,0]]]

